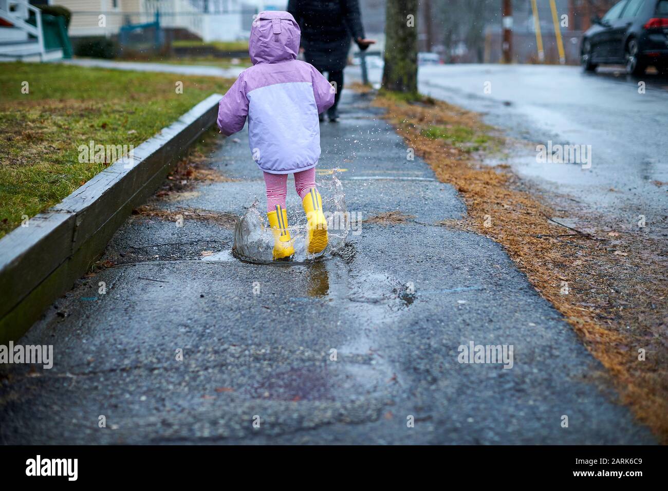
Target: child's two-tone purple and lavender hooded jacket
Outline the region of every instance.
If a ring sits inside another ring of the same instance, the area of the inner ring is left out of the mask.
[[[227,136],[244,127],[259,168],[289,174],[320,158],[318,114],[334,104],[334,89],[313,66],[297,59],[301,31],[288,12],[259,13],[248,52],[253,66],[239,75],[218,106]]]

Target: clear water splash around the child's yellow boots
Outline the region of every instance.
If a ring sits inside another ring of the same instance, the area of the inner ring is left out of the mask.
[[[306,251],[307,220],[301,202],[290,200],[287,206],[290,235],[293,238],[295,255],[291,263],[306,263],[335,255],[345,246],[351,227],[350,216],[345,205],[343,184],[334,170],[331,174],[318,177],[318,189],[323,198],[323,211],[327,218],[329,244],[327,249],[316,255]],[[290,193],[289,193],[290,194]],[[263,200],[264,204],[264,200]],[[273,263],[274,237],[269,228],[267,214],[260,200],[255,201],[241,216],[234,228],[232,253],[242,261],[250,263]]]

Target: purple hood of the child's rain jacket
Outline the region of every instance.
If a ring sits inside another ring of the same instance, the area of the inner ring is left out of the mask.
[[[263,11],[253,21],[248,53],[253,65],[297,59],[301,31],[295,17],[284,11]]]

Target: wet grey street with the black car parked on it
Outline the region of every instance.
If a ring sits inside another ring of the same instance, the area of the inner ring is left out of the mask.
[[[350,70],[358,76],[358,69]],[[371,81],[381,71],[371,69]],[[613,67],[436,65],[420,68],[420,92],[481,112],[530,142],[508,162],[546,190],[603,212],[613,224],[668,235],[668,79],[627,77]],[[639,94],[639,82],[645,93]],[[591,168],[536,161],[536,145],[591,145]]]

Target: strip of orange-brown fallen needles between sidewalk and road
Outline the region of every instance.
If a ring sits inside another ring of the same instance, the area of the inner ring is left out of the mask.
[[[602,230],[596,216],[576,209],[568,215],[580,213],[587,224],[583,233],[560,226],[548,218],[558,212],[545,196],[520,190],[526,183],[507,165],[484,166],[477,156],[421,134],[432,125],[485,131],[488,127],[478,114],[432,100],[407,104],[379,96],[373,104],[387,109],[387,120],[407,145],[464,198],[468,217],[444,225],[473,230],[502,244],[536,291],[564,315],[611,373],[623,403],[668,443],[665,244],[639,232]],[[562,282],[568,283],[565,295]],[[645,350],[645,361],[639,360],[639,349]]]

